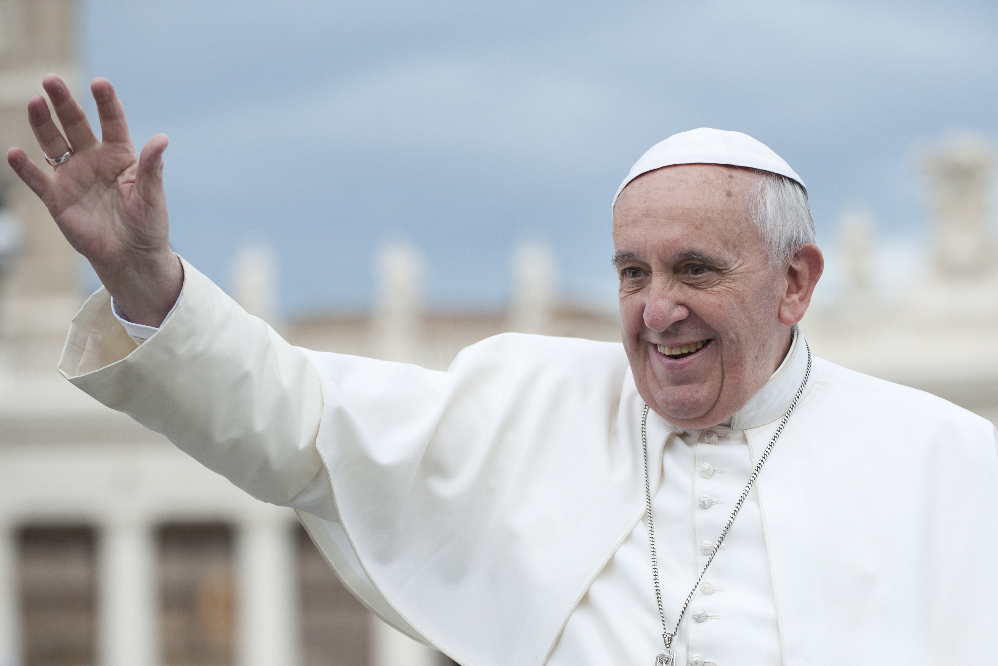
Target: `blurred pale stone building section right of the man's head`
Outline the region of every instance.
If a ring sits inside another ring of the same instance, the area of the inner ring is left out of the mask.
[[[886,299],[872,220],[840,221],[847,284],[838,307],[812,309],[801,328],[840,365],[940,395],[998,423],[998,239],[992,226],[993,149],[951,136],[920,165],[934,224],[919,274]]]

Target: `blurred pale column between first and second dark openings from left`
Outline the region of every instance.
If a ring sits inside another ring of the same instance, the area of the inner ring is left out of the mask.
[[[101,534],[98,653],[102,666],[156,666],[160,654],[156,546],[149,524],[113,519]]]

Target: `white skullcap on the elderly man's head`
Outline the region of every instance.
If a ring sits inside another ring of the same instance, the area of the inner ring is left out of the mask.
[[[702,127],[674,134],[665,141],[652,146],[631,167],[631,173],[617,188],[614,204],[617,204],[617,198],[621,196],[621,192],[634,179],[650,171],[676,164],[730,164],[735,167],[749,167],[793,179],[800,184],[804,192],[807,191],[804,182],[800,180],[796,172],[790,169],[790,165],[786,164],[783,158],[773,153],[765,144],[755,141],[748,134],[741,132]]]

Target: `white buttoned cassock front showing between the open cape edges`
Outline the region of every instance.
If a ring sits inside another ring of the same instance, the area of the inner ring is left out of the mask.
[[[719,435],[715,444],[709,443],[714,440],[712,433]],[[749,479],[752,463],[742,430],[692,430],[666,441],[664,480],[653,498],[653,510],[670,629],[706,562],[700,548],[705,541],[717,540]],[[711,465],[706,471],[710,477],[701,469],[705,464]],[[699,505],[701,497],[707,508]],[[701,586],[711,593],[694,597],[673,641],[676,663],[778,666],[782,663],[779,624],[754,491],[722,547],[705,578],[711,587]],[[651,663],[649,655],[662,651],[662,624],[651,571],[648,530],[641,521],[572,613],[548,665]],[[707,619],[691,621],[698,611]]]

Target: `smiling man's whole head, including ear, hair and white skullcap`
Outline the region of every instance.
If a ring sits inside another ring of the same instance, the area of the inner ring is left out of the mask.
[[[746,135],[696,130],[652,149],[637,169],[689,159],[679,157],[688,147],[722,142],[722,152],[726,137],[736,143],[727,162],[779,160]],[[615,203],[624,348],[641,396],[676,425],[717,425],[749,401],[786,356],[821,275],[803,184],[781,167],[793,180],[670,165],[632,174]],[[763,240],[758,230],[780,213],[772,226],[793,233]]]

